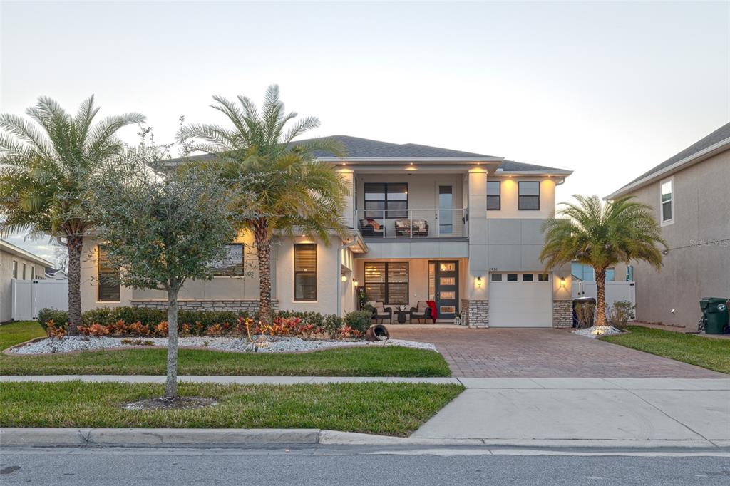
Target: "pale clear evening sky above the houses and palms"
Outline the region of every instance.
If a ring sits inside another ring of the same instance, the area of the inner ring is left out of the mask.
[[[606,196],[730,120],[730,3],[177,3],[0,6],[0,111],[223,122],[210,96],[316,115],[312,136],[420,143],[575,174]],[[123,137],[134,142],[136,129]],[[53,258],[45,242],[12,242]]]

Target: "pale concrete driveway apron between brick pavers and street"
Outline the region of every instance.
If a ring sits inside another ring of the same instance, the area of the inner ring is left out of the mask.
[[[412,437],[730,445],[730,379],[466,379]]]

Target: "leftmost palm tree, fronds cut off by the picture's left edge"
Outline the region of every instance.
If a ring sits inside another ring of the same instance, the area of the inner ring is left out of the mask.
[[[93,228],[88,188],[101,166],[122,149],[116,133],[142,123],[139,113],[93,123],[93,96],[75,116],[41,97],[26,115],[0,115],[0,234],[49,234],[69,252],[69,334],[81,324],[83,239]]]

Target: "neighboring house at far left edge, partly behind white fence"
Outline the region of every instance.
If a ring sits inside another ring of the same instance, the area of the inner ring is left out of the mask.
[[[0,239],[0,323],[12,319],[12,279],[44,279],[52,263]]]

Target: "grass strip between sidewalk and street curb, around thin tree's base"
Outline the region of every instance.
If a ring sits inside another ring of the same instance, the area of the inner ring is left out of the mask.
[[[163,395],[163,385],[14,382],[0,387],[0,427],[325,428],[406,436],[461,385],[181,384],[181,396],[217,398],[203,409],[128,411],[120,405]]]

